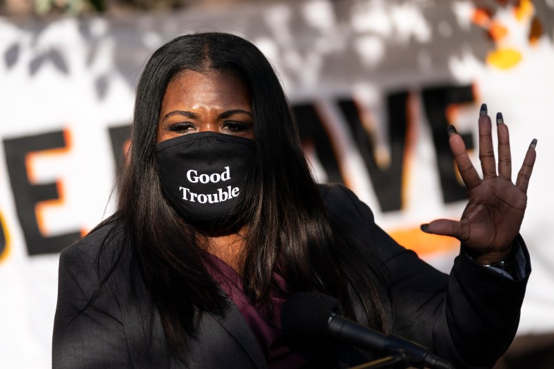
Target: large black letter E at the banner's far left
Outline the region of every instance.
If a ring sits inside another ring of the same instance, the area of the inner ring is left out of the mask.
[[[72,232],[45,237],[39,231],[35,205],[37,202],[59,198],[55,183],[31,184],[25,157],[32,151],[43,151],[65,147],[63,131],[54,131],[37,136],[11,138],[4,140],[6,164],[10,174],[10,184],[14,194],[17,217],[23,229],[29,255],[59,253],[81,237],[81,233]]]

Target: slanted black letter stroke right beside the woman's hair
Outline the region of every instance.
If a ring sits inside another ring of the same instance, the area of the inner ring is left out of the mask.
[[[333,146],[325,131],[324,123],[316,112],[313,104],[299,104],[293,106],[294,117],[298,123],[300,140],[311,140],[321,165],[325,168],[328,182],[344,182],[340,175],[340,168],[334,155]]]

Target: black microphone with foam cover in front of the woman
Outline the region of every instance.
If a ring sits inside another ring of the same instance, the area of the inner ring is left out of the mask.
[[[373,352],[402,352],[412,366],[453,369],[448,361],[431,354],[427,348],[394,335],[384,335],[340,316],[338,299],[316,292],[291,295],[281,312],[283,336],[289,344],[306,342],[327,346],[332,341]]]

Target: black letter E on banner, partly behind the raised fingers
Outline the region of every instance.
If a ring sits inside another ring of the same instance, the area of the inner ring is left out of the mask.
[[[438,161],[440,185],[444,202],[455,202],[467,198],[466,188],[456,178],[454,160],[448,144],[447,107],[461,103],[473,103],[471,86],[440,86],[423,90],[423,105],[427,120],[431,124],[433,143]],[[477,117],[475,117],[475,121]],[[467,149],[473,149],[471,134],[460,132]]]

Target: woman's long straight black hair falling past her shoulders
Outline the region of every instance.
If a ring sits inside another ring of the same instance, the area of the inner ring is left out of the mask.
[[[385,330],[376,292],[378,269],[329,222],[318,186],[302,152],[296,123],[269,61],[249,41],[232,34],[178,37],[152,55],[139,81],[130,159],[119,184],[116,212],[105,223],[123,229],[158,309],[172,351],[184,357],[202,313],[225,314],[228,300],[203,265],[202,235],[163,197],[154,158],[156,129],[165,89],[184,70],[220,70],[241,76],[252,93],[255,158],[240,222],[247,224],[240,264],[253,302],[267,302],[272,273],[286,293],[320,291],[341,300],[355,318],[349,288],[360,296],[365,320]],[[362,271],[360,273],[360,271]]]

